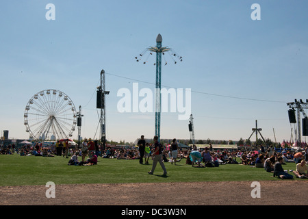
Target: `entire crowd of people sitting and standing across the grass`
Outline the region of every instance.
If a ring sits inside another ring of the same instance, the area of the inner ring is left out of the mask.
[[[159,149],[156,148],[156,144],[160,146]],[[260,146],[258,150],[238,149],[229,151],[214,150],[211,144],[209,144],[209,147],[205,147],[204,149],[197,149],[195,145],[186,149],[180,148],[176,139],[173,139],[167,149],[166,146],[159,144],[157,140],[154,144],[146,143],[144,136],[141,136],[138,144],[129,149],[114,149],[112,147],[103,149],[102,145],[99,145],[97,141],[93,141],[90,138],[84,139],[81,148],[70,146],[68,141],[58,141],[48,147],[43,147],[42,143],[33,145],[25,144],[21,147],[16,147],[14,144],[0,146],[0,154],[10,155],[12,153],[18,153],[21,156],[63,156],[69,158],[69,165],[84,166],[97,164],[98,157],[108,159],[138,159],[140,164],[149,164],[149,160],[152,160],[153,164],[155,164],[153,167],[157,163],[161,164],[164,174],[166,173],[166,168],[162,165],[163,162],[170,162],[171,164],[177,165],[182,159],[185,159],[185,164],[192,165],[193,167],[195,165],[197,167],[218,167],[224,164],[241,164],[255,168],[264,168],[266,172],[272,172],[273,177],[279,177],[281,179],[293,179],[293,177],[304,179],[308,177],[307,147],[303,153],[287,151],[287,149],[282,149],[277,152],[272,146],[266,150],[263,146]],[[290,162],[296,165],[296,170],[283,170],[283,164]],[[149,172],[150,174],[153,173],[153,170],[151,171]]]

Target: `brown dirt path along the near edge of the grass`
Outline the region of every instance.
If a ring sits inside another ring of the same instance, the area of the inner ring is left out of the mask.
[[[55,198],[45,185],[3,186],[0,205],[308,205],[308,180],[259,181],[260,198],[251,183],[55,185]]]

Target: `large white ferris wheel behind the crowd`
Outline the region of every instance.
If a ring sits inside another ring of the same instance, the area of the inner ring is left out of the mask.
[[[59,90],[42,90],[28,101],[24,125],[34,140],[60,140],[75,131],[77,112],[71,99]]]

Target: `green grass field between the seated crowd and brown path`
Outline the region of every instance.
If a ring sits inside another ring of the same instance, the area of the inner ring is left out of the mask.
[[[81,157],[79,157],[79,161]],[[164,163],[168,176],[162,176],[162,168],[157,164],[154,175],[150,164],[139,164],[138,160],[103,159],[94,166],[68,166],[64,157],[21,157],[20,155],[0,155],[0,186],[4,185],[45,185],[79,183],[158,183],[190,181],[263,181],[281,180],[273,177],[263,168],[253,168],[238,164],[220,165],[216,168],[196,168],[185,164],[177,166]],[[296,164],[283,165],[285,170],[294,170]],[[295,178],[294,178],[295,179]],[[298,179],[296,179],[298,180]]]

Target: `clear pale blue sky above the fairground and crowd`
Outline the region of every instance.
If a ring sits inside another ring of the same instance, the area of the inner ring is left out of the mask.
[[[135,57],[155,47],[161,34],[162,46],[183,57],[174,64],[172,55],[163,56],[162,88],[178,96],[177,89],[191,90],[183,100],[191,106],[196,140],[247,139],[257,120],[264,138],[290,141],[295,127],[287,103],[308,99],[307,8],[299,0],[0,1],[1,135],[8,130],[9,138],[29,138],[25,107],[51,89],[81,106],[81,137],[99,138],[96,91],[103,69],[110,91],[107,140],[153,138],[154,106],[133,112],[132,99],[133,86],[137,96],[151,90],[155,99],[155,55]],[[131,92],[131,112],[120,112],[121,90]],[[179,119],[179,107],[171,112],[170,103],[161,138],[190,139],[189,120]]]

